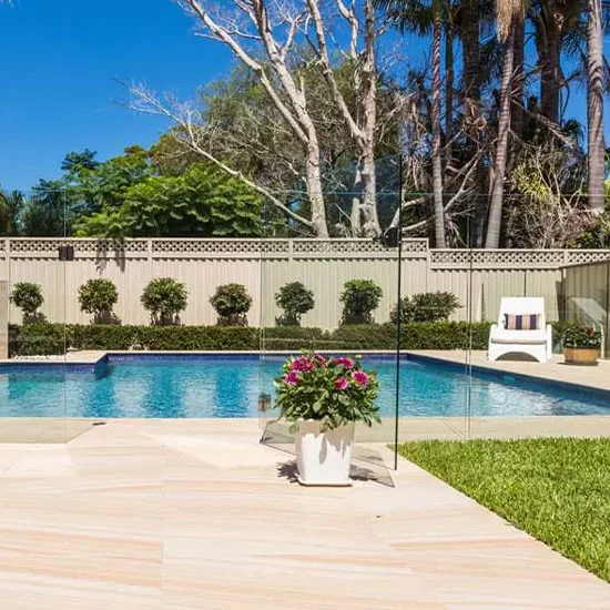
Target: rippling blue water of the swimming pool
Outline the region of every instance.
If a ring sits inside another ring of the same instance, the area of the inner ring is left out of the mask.
[[[93,367],[0,366],[0,417],[254,417],[273,395],[283,358],[258,356],[111,356]],[[395,409],[393,358],[368,356],[383,415]],[[404,359],[403,416],[610,415],[610,394],[475,370],[426,358]]]

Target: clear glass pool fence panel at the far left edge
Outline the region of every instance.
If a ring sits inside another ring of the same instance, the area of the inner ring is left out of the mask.
[[[47,237],[14,237],[14,225],[2,238],[0,441],[64,443],[88,428],[72,419],[67,398],[80,384],[69,367],[65,340],[65,193],[9,197],[19,200],[10,202],[11,209],[38,218]]]

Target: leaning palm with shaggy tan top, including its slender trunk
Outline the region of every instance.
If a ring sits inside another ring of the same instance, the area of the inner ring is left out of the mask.
[[[494,162],[494,184],[489,203],[485,247],[500,245],[502,222],[504,186],[508,160],[508,135],[510,133],[510,105],[512,100],[512,71],[515,68],[515,34],[517,26],[525,20],[528,0],[496,0],[498,39],[505,44],[505,60],[500,85],[500,111],[498,115],[498,141]]]

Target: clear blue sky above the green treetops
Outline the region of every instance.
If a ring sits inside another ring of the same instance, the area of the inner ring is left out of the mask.
[[[232,65],[228,51],[193,37],[192,27],[171,0],[1,6],[0,184],[28,190],[39,177],[58,177],[69,151],[89,148],[106,159],[152,144],[166,123],[122,106],[125,91],[115,79],[189,98],[222,77]],[[423,47],[411,42],[409,52]],[[582,92],[572,98],[570,114],[579,120],[583,101]]]

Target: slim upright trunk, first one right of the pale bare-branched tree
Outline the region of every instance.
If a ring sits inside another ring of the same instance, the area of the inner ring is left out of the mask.
[[[434,34],[433,34],[433,191],[435,213],[435,244],[446,247],[445,241],[445,207],[443,205],[443,160],[440,133],[440,35],[441,35],[440,0],[434,0]]]

